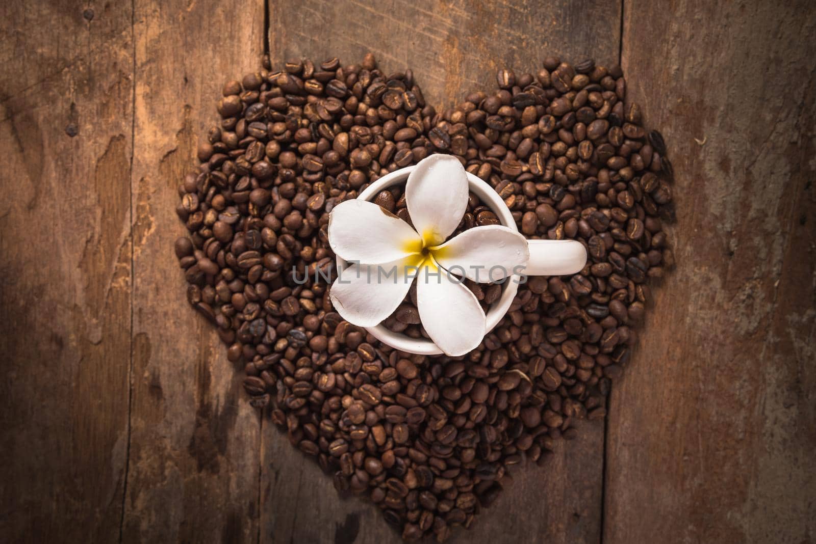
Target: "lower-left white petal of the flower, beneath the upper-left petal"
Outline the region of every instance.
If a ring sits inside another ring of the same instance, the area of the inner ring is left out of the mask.
[[[400,305],[421,262],[414,255],[381,265],[349,265],[331,284],[331,303],[353,325],[374,327]]]

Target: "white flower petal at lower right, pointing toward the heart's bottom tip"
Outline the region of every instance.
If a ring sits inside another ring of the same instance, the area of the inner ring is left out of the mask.
[[[486,318],[479,301],[430,259],[419,270],[416,301],[422,326],[446,354],[457,357],[481,344]]]

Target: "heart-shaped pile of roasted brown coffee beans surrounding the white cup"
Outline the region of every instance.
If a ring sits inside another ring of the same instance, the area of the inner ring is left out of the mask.
[[[661,224],[672,165],[620,68],[551,57],[498,83],[437,112],[410,70],[386,75],[372,55],[279,72],[264,59],[224,86],[202,164],[179,187],[188,301],[228,344],[252,405],[407,540],[470,526],[508,467],[543,462],[575,419],[604,417],[647,283],[672,265]],[[315,274],[334,263],[331,209],[436,152],[494,186],[525,235],[589,253],[580,274],[522,285],[480,348],[455,359],[379,344],[335,313]]]

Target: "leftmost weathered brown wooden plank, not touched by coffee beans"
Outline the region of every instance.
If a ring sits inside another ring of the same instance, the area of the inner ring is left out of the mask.
[[[94,8],[0,5],[3,542],[119,536],[131,337],[131,8]]]

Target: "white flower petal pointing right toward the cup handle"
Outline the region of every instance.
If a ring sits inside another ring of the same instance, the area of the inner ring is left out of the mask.
[[[501,225],[465,230],[431,251],[442,268],[478,283],[498,282],[521,272],[530,259],[524,236]]]

